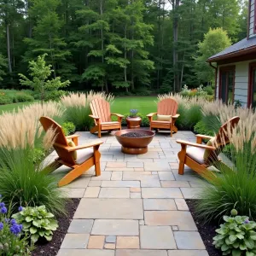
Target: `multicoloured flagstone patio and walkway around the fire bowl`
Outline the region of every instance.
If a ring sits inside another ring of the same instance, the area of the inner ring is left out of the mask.
[[[98,139],[79,134],[79,144]],[[81,201],[58,256],[207,256],[184,201],[203,182],[188,167],[177,174],[177,138],[195,142],[191,131],[172,138],[159,133],[147,154],[131,155],[121,153],[113,135],[103,135],[102,175],[90,170],[61,188]]]

